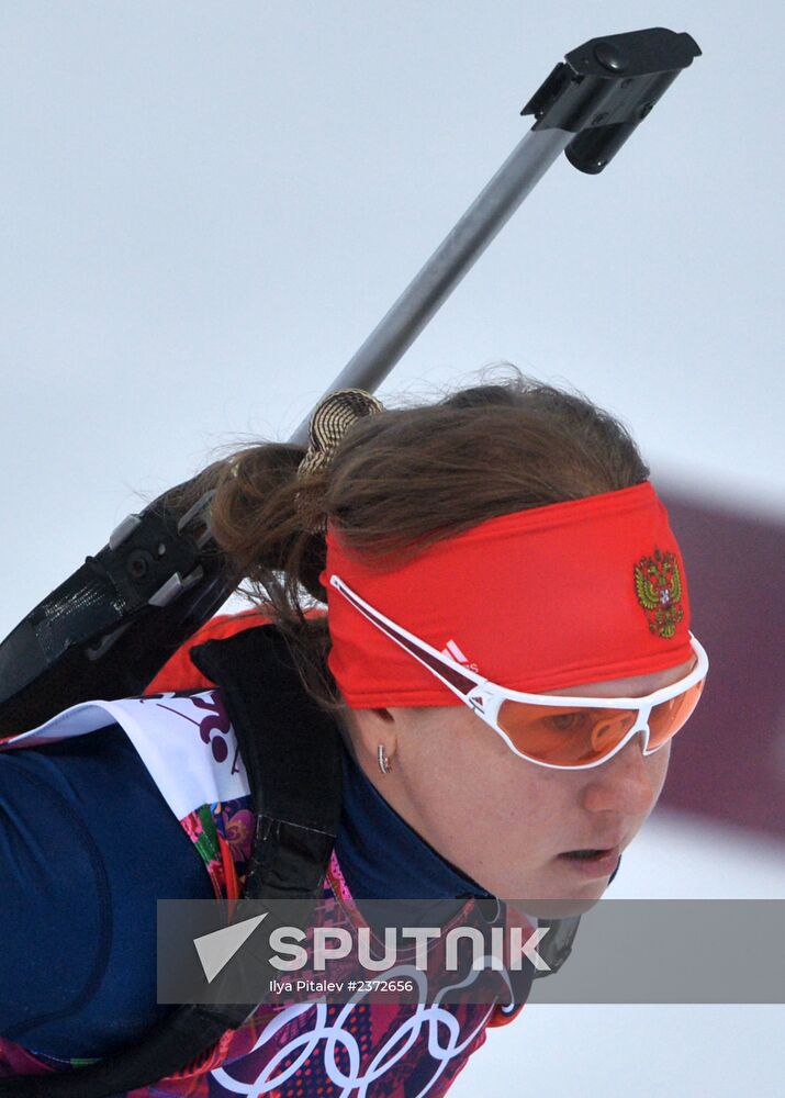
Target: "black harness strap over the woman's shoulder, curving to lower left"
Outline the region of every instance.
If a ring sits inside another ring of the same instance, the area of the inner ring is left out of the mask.
[[[223,691],[254,797],[244,896],[315,903],[340,822],[338,728],[305,694],[274,626],[211,640],[193,657]],[[0,1098],[113,1098],[176,1075],[248,1017],[244,1005],[178,1007],[144,1041],[98,1064],[0,1079]]]

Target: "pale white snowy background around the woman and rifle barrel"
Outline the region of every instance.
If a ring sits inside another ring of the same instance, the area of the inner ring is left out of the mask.
[[[212,447],[287,438],[553,65],[652,25],[704,56],[604,173],[551,169],[382,396],[506,359],[621,415],[655,483],[782,515],[782,4],[5,0],[0,635]],[[784,863],[659,814],[613,895],[782,897]],[[531,1008],[451,1094],[764,1098],[784,1021]]]

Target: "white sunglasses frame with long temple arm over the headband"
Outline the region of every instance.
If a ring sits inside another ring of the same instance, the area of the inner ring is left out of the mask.
[[[527,694],[524,691],[508,690],[506,686],[494,683],[490,679],[483,679],[483,676],[471,666],[458,663],[457,660],[451,659],[449,656],[445,654],[445,652],[440,652],[431,645],[428,645],[427,641],[417,637],[415,634],[410,632],[408,629],[404,629],[403,626],[397,625],[391,618],[375,609],[375,607],[371,606],[371,604],[366,602],[366,600],[358,595],[356,591],[352,591],[348,583],[341,580],[339,575],[336,575],[335,573],[330,575],[329,583],[330,586],[338,591],[347,600],[347,602],[355,607],[355,609],[357,609],[371,623],[371,625],[374,625],[386,637],[394,640],[396,645],[408,652],[410,656],[414,657],[414,659],[422,663],[424,668],[427,668],[433,675],[442,682],[445,686],[451,690],[452,693],[456,694],[466,706],[468,706],[468,708],[475,713],[481,720],[484,720],[486,725],[489,725],[498,736],[502,737],[506,746],[514,754],[516,754],[519,759],[525,759],[527,762],[534,763],[535,766],[545,766],[547,770],[592,770],[595,766],[602,766],[603,763],[608,762],[609,759],[613,759],[614,755],[618,754],[618,752],[621,751],[621,749],[639,733],[643,737],[643,754],[654,754],[655,751],[659,751],[672,739],[672,736],[670,736],[664,743],[649,750],[649,717],[651,715],[651,710],[655,705],[660,705],[662,702],[670,702],[674,697],[679,697],[680,694],[684,694],[692,686],[702,682],[708,672],[709,664],[706,650],[697,638],[691,632],[689,645],[695,653],[695,666],[684,679],[680,679],[679,682],[672,683],[670,686],[662,686],[652,694],[646,694],[642,697],[572,697],[570,695],[558,694]],[[625,733],[616,747],[601,759],[596,759],[594,762],[579,763],[575,765],[560,765],[559,763],[542,762],[540,759],[534,759],[531,755],[524,754],[523,751],[519,751],[515,747],[497,721],[502,704],[507,701],[525,702],[529,705],[567,708],[635,709],[638,713],[638,717],[632,727]],[[675,736],[675,732],[672,735]]]

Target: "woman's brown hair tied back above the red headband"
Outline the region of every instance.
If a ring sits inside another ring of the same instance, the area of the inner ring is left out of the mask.
[[[245,593],[289,638],[305,687],[328,708],[340,702],[325,665],[326,620],[305,617],[325,601],[325,538],[313,533],[319,520],[338,527],[367,563],[383,564],[486,518],[649,475],[618,419],[514,368],[504,381],[360,419],[329,467],[305,482],[296,477],[304,453],[290,444],[250,446],[205,470],[198,491],[216,489],[215,540],[246,578]]]

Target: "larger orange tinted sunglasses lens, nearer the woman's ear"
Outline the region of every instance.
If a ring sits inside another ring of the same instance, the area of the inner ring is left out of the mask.
[[[582,766],[597,762],[618,747],[637,716],[635,709],[505,701],[497,720],[522,754],[553,766]]]

